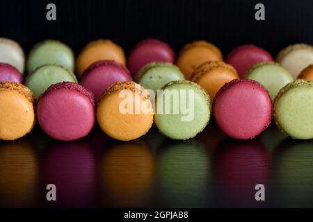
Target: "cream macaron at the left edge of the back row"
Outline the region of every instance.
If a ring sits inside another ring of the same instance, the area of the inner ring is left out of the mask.
[[[8,63],[24,74],[25,54],[17,42],[0,37],[0,62]]]

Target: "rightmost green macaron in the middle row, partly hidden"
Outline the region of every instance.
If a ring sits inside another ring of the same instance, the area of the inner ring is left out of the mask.
[[[280,89],[294,81],[287,69],[274,62],[257,62],[245,74],[245,78],[261,83],[271,95],[272,101]]]

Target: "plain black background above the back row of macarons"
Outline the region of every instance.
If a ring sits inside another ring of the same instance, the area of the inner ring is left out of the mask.
[[[46,19],[55,3],[57,21]],[[255,4],[264,3],[265,21],[255,20]],[[129,52],[145,37],[156,37],[175,51],[193,40],[208,40],[224,55],[240,44],[257,44],[276,56],[288,44],[313,44],[313,1],[209,0],[10,0],[0,1],[0,36],[28,52],[48,38],[75,53],[90,40],[111,39]]]

